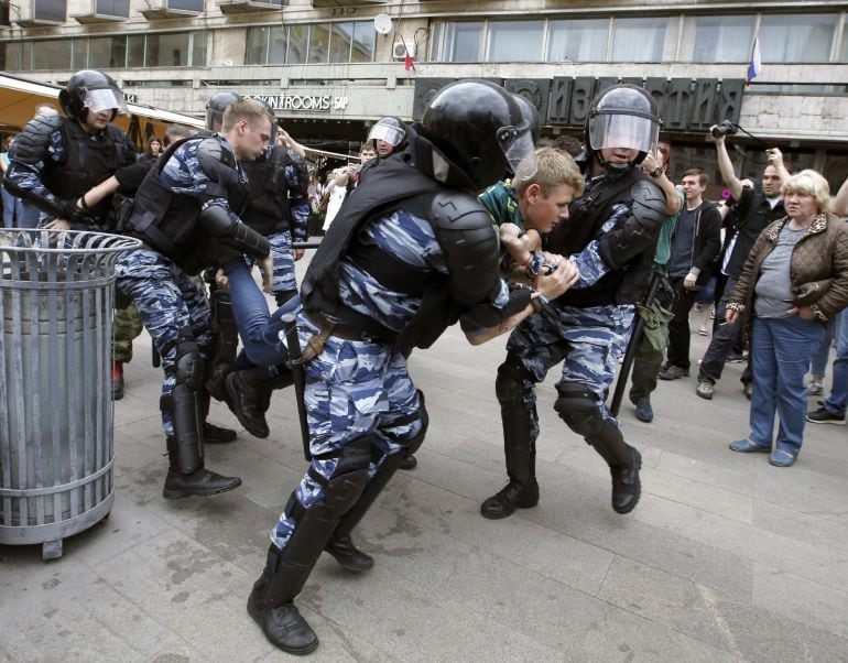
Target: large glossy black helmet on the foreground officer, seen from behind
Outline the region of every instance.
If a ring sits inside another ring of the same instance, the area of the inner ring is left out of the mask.
[[[488,80],[443,87],[424,109],[417,134],[437,150],[432,170],[438,182],[482,191],[519,164],[535,174],[529,120],[514,95]]]

